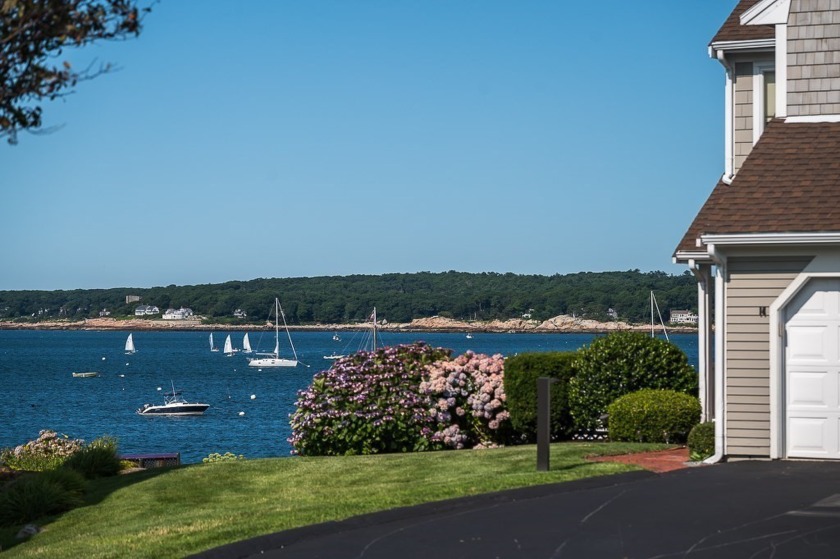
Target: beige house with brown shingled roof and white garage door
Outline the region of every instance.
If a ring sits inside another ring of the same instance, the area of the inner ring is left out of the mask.
[[[674,258],[699,286],[711,460],[840,459],[840,0],[741,0],[709,54],[725,170]]]

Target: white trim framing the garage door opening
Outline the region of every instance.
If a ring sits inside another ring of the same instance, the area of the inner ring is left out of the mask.
[[[770,458],[785,458],[785,312],[805,285],[816,278],[840,278],[840,251],[817,254],[770,305]]]

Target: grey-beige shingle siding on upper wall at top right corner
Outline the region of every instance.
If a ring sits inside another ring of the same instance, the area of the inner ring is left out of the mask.
[[[840,4],[793,0],[787,48],[788,115],[840,114]]]

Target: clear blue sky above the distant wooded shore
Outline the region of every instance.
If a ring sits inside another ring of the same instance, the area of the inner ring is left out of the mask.
[[[682,273],[736,0],[163,0],[0,145],[0,289]]]

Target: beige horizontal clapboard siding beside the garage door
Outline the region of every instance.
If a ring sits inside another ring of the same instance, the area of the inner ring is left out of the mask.
[[[770,456],[770,318],[808,259],[731,259],[726,285],[726,454]]]

